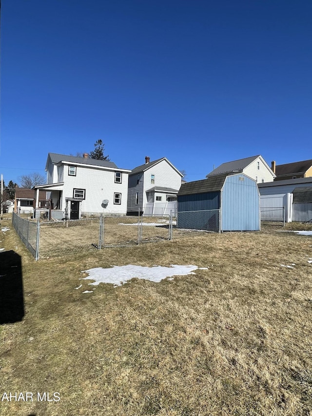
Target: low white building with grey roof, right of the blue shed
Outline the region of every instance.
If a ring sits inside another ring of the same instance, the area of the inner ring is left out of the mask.
[[[285,207],[286,222],[311,221],[312,178],[274,180],[258,184],[262,209],[272,208],[272,212]]]

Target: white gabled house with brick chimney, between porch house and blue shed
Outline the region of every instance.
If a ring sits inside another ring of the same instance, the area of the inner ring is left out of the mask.
[[[161,215],[168,214],[170,209],[176,211],[176,196],[182,178],[167,158],[150,162],[146,156],[145,164],[129,174],[128,214]]]

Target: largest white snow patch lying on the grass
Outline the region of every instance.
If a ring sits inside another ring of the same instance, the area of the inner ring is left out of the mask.
[[[126,283],[128,280],[131,280],[134,277],[138,279],[151,280],[158,283],[166,277],[195,275],[194,270],[197,269],[208,269],[208,267],[197,267],[194,265],[178,266],[176,264],[171,264],[170,267],[146,267],[128,264],[126,266],[113,266],[109,269],[95,267],[94,269],[84,270],[81,273],[88,273],[89,275],[88,277],[82,277],[83,280],[95,280],[89,284],[97,286],[99,283],[112,283],[116,287],[121,286],[121,284]]]

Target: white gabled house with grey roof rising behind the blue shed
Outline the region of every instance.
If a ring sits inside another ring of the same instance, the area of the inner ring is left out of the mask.
[[[271,182],[275,178],[275,174],[272,172],[270,166],[260,155],[222,163],[222,165],[206,175],[206,178],[224,173],[240,172],[254,179],[257,183]]]

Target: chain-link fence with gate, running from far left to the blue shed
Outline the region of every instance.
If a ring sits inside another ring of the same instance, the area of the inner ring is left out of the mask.
[[[103,247],[128,247],[147,242],[220,232],[219,210],[171,212],[170,215],[104,217],[37,222],[13,213],[13,227],[30,253],[39,258]]]

